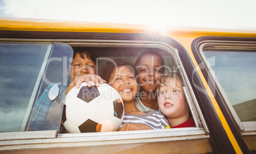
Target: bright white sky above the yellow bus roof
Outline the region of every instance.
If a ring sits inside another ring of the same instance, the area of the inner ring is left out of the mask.
[[[0,17],[256,31],[255,0],[0,0]]]

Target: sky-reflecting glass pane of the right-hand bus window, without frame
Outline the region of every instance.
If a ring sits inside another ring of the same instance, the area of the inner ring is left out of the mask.
[[[204,51],[242,122],[256,121],[256,52]]]

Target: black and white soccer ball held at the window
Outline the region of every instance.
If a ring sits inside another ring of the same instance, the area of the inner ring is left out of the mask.
[[[119,129],[124,117],[122,98],[110,85],[88,88],[82,83],[66,95],[62,122],[68,132],[110,132]]]

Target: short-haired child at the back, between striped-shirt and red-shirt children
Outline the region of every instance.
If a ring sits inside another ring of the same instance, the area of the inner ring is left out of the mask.
[[[156,90],[164,73],[164,59],[157,52],[145,52],[135,62],[138,72],[139,97],[136,106],[140,111],[158,111]]]

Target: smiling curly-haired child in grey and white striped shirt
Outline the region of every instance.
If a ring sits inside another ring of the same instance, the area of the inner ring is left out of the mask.
[[[145,130],[169,128],[167,120],[155,110],[142,112],[136,108],[134,97],[138,93],[138,85],[132,65],[124,59],[108,62],[101,74],[104,80],[115,88],[124,102],[124,120],[122,130]]]

